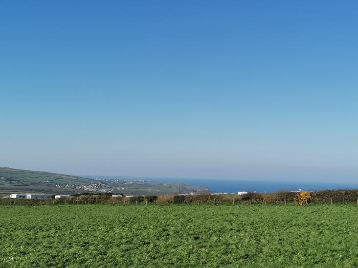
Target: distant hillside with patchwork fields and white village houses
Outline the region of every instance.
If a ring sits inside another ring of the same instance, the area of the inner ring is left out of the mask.
[[[120,192],[127,195],[210,192],[206,187],[150,180],[103,180],[64,174],[0,167],[0,195],[15,192]]]

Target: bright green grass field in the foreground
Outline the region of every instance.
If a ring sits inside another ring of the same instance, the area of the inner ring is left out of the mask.
[[[358,267],[358,206],[0,206],[0,267],[116,266]]]

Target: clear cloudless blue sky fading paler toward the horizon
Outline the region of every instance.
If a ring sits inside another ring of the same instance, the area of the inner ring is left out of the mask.
[[[3,1],[0,166],[356,182],[356,1]]]

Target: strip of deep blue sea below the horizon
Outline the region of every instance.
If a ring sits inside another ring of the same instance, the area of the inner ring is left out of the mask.
[[[157,179],[158,180],[158,179]],[[255,180],[205,180],[205,179],[161,179],[163,181],[184,182],[193,186],[209,187],[213,192],[237,193],[238,191],[276,192],[280,190],[326,190],[357,189],[356,183],[329,182],[282,182]]]

